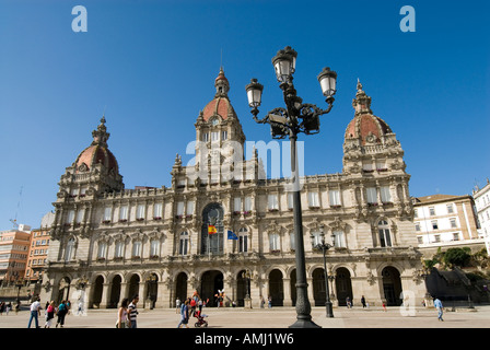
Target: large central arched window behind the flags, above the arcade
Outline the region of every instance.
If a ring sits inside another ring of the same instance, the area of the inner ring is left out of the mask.
[[[224,247],[223,207],[219,203],[209,203],[202,210],[201,254],[221,255]],[[208,228],[213,225],[217,233],[209,234]]]

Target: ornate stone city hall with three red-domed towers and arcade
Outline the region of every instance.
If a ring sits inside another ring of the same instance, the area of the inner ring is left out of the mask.
[[[266,178],[257,151],[245,160],[222,70],[195,124],[195,162],[184,166],[177,154],[171,187],[126,189],[101,119],[92,144],[59,182],[43,300],[83,298],[86,307],[116,307],[139,293],[144,307],[172,307],[195,290],[214,304],[224,289],[225,301],[243,305],[249,285],[254,307],[269,295],[273,305],[294,305],[288,179]],[[364,295],[371,305],[399,305],[401,291],[420,304],[425,292],[404,151],[370,106],[358,83],[342,173],[302,179],[312,305],[326,300],[323,255],[311,245],[322,230],[335,236],[327,253],[335,304],[347,296],[359,304]],[[208,233],[210,224],[217,233]]]

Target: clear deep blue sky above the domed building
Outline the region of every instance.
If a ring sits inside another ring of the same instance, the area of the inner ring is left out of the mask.
[[[73,7],[88,11],[74,33]],[[416,10],[402,33],[401,7]],[[342,171],[357,79],[405,150],[410,195],[466,195],[490,176],[488,1],[0,1],[0,230],[33,228],[104,113],[127,188],[170,186],[175,154],[214,95],[220,65],[247,140],[245,85],[265,85],[262,113],[283,106],[271,58],[298,52],[295,88],[325,107],[316,80],[338,73],[320,133],[302,136],[305,173]],[[221,60],[222,51],[222,60]],[[22,189],[22,195],[20,195]]]

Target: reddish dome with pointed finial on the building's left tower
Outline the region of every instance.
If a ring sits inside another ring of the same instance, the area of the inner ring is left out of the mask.
[[[107,148],[109,133],[105,127],[105,118],[102,117],[97,130],[92,132],[94,141],[84,149],[74,162],[75,173],[90,172],[95,165],[101,164],[107,173],[119,173],[119,166],[114,154]]]

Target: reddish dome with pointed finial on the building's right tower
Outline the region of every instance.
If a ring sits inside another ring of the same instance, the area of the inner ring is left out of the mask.
[[[393,133],[389,126],[382,118],[373,115],[371,110],[371,97],[362,90],[362,84],[358,81],[358,93],[352,101],[355,109],[354,118],[346,129],[345,139],[359,139],[361,145],[366,143],[381,143],[382,137]]]

